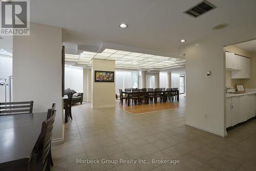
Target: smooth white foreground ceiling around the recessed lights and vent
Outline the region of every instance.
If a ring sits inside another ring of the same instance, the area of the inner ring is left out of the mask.
[[[201,0],[33,0],[30,7],[32,22],[63,28],[63,42],[88,47],[108,42],[164,53],[180,46],[180,39],[190,43],[255,22],[255,0],[209,0],[216,9],[198,18],[183,13],[199,2]],[[122,22],[129,26],[120,29]],[[229,26],[223,30],[211,29],[221,23]]]

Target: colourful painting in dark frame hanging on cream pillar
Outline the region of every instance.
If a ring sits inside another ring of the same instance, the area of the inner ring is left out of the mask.
[[[94,71],[94,82],[110,82],[114,83],[115,73],[114,71]]]

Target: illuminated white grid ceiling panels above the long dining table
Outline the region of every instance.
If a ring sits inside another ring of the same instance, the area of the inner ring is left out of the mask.
[[[101,53],[83,51],[79,55],[65,54],[65,61],[74,62],[76,66],[91,67],[92,59],[112,60],[116,68],[125,69],[163,69],[185,65],[185,60],[114,49],[105,49]]]

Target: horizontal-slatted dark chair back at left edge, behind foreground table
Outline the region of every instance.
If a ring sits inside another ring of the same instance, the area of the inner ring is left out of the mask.
[[[0,115],[16,115],[33,112],[33,101],[0,103]]]

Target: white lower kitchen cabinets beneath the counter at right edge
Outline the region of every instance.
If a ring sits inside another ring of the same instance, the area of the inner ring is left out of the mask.
[[[255,117],[256,94],[226,98],[226,128]]]

